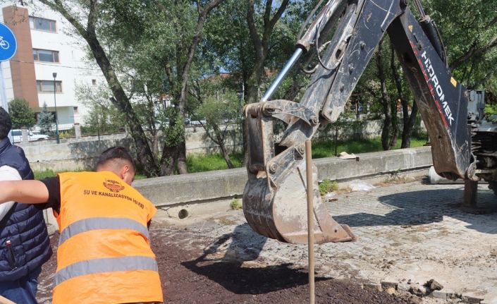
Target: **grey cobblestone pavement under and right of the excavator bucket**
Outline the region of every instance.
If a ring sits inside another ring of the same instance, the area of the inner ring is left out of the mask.
[[[460,207],[462,191],[461,184],[412,182],[338,195],[327,206],[357,241],[317,245],[317,273],[372,283],[435,279],[444,286],[441,296],[497,303],[497,199],[479,186],[479,206],[493,213],[472,214]],[[243,212],[197,221],[189,229],[211,237],[208,251],[221,259],[307,265],[307,245],[257,235]]]

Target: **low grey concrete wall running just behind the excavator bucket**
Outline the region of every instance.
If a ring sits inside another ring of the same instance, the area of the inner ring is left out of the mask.
[[[352,178],[397,173],[431,166],[429,147],[360,154],[355,159],[329,157],[314,161],[318,178],[343,181]],[[245,168],[199,174],[164,176],[135,181],[133,186],[158,206],[175,206],[241,197],[247,171]]]

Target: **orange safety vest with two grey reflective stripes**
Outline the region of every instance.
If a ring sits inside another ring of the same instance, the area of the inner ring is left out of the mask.
[[[59,174],[54,304],[162,302],[152,202],[109,171]]]

